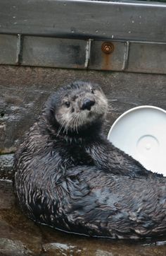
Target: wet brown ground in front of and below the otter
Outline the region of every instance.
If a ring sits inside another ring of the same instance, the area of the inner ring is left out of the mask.
[[[140,242],[87,238],[27,219],[15,204],[12,183],[0,180],[0,255],[166,255],[166,238]]]

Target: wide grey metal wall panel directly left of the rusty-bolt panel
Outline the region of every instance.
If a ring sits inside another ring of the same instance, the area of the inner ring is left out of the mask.
[[[26,37],[23,40],[23,65],[84,68],[85,40]]]

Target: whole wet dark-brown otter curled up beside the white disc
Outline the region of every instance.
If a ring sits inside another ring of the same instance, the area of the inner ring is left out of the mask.
[[[81,81],[60,88],[15,153],[25,214],[71,233],[145,238],[166,232],[166,178],[102,135],[108,100]]]

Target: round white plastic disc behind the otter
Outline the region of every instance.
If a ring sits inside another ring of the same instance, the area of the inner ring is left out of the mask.
[[[114,122],[108,139],[147,170],[166,176],[166,111],[134,107]]]

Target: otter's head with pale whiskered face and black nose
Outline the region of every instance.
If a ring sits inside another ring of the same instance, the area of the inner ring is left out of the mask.
[[[47,104],[49,122],[63,134],[78,134],[102,123],[107,110],[108,100],[100,86],[82,81],[60,88]]]

